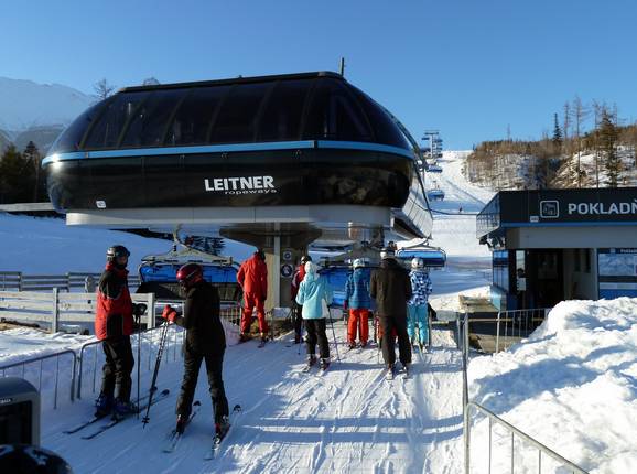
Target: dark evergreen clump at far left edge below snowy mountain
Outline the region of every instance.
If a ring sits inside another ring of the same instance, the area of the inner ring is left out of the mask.
[[[0,160],[0,203],[28,203],[33,192],[34,173],[29,160],[10,146]]]

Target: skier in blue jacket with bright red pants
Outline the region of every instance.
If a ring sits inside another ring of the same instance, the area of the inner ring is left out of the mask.
[[[349,309],[349,320],[347,323],[347,343],[349,348],[356,347],[356,332],[358,331],[360,347],[367,345],[369,337],[369,309],[371,299],[369,298],[369,274],[365,270],[365,262],[357,258],[353,265],[354,271],[345,283],[344,309]]]

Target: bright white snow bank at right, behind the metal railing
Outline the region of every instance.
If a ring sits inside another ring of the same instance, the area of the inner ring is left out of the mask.
[[[637,466],[637,299],[562,302],[509,352],[473,359],[468,376],[474,401],[586,471]],[[487,465],[486,424],[472,465]],[[496,445],[510,452],[507,437]]]

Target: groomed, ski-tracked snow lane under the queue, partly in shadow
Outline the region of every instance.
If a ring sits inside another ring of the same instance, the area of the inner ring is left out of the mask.
[[[45,413],[43,445],[79,473],[458,472],[462,376],[451,334],[434,332],[436,347],[414,353],[411,379],[387,381],[376,347],[345,352],[341,322],[336,332],[342,362],[323,376],[301,373],[304,354],[287,347],[287,338],[261,349],[256,342],[228,348],[226,391],[244,412],[215,460],[204,461],[212,433],[204,373],[195,396],[202,413],[176,452],[161,452],[174,423],[179,360],[162,370],[158,385],[171,397],[153,407],[145,429],[127,420],[90,441],[63,434],[90,412],[91,400],[82,400]]]

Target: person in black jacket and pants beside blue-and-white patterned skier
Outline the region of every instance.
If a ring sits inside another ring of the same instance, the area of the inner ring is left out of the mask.
[[[392,331],[398,335],[398,352],[404,370],[411,364],[411,345],[407,334],[407,302],[411,298],[409,273],[393,258],[392,249],[380,252],[380,268],[371,273],[369,295],[376,299],[376,313],[382,327],[382,359],[388,371],[396,364]]]

